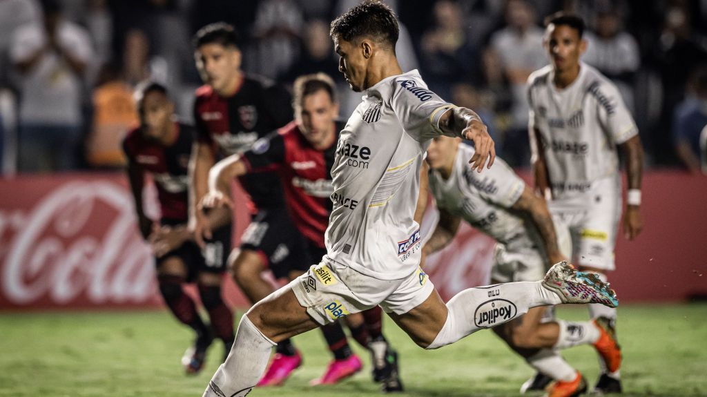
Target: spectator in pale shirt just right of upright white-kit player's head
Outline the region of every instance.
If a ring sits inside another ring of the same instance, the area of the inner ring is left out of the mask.
[[[612,6],[597,12],[595,32],[587,32],[587,52],[583,61],[599,69],[619,88],[626,106],[635,110],[633,100],[633,81],[641,57],[638,44],[629,33],[621,29],[621,17]]]

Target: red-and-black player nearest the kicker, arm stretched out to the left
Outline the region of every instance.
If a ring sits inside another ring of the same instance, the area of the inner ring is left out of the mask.
[[[339,103],[332,78],[324,73],[300,76],[293,90],[295,121],[258,141],[243,155],[230,156],[218,162],[211,169],[209,186],[210,190],[214,190],[211,188],[214,186],[227,194],[233,178],[252,170],[276,167],[284,182],[286,202],[293,221],[304,237],[308,256],[300,260],[318,263],[327,254],[324,239],[333,205],[329,196],[334,191],[331,169],[339,131],[344,124],[336,122]],[[224,203],[233,206],[228,195],[207,196],[206,202],[209,207]],[[304,272],[297,275],[301,273]],[[314,284],[304,285],[304,288],[315,288]],[[397,352],[390,348],[382,334],[380,307],[351,314],[346,317],[346,322],[358,343],[370,350],[374,381],[382,381],[384,391],[402,391],[397,372]],[[329,329],[332,326],[334,329]],[[339,321],[322,326],[322,329],[330,348],[346,342],[343,331],[338,331],[341,329]],[[332,335],[339,334],[339,340],[332,340]],[[351,355],[354,359],[340,358],[336,357],[337,350],[332,351],[334,361],[313,384],[333,384],[361,369],[361,360],[355,355]]]

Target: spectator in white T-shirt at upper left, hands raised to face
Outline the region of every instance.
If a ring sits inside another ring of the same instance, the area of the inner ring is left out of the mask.
[[[10,58],[21,73],[20,171],[71,170],[81,137],[82,83],[93,56],[90,38],[62,18],[57,0],[42,0],[42,23],[13,35]]]

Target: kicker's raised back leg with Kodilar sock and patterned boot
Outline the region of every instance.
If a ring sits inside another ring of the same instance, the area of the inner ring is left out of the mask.
[[[618,304],[607,285],[565,262],[550,268],[544,280],[469,288],[447,304],[431,286],[432,291],[423,302],[405,310],[404,301],[414,302],[411,296],[419,298],[426,292],[416,288],[416,281],[413,273],[381,306],[392,312],[392,319],[415,343],[428,349],[454,343],[479,329],[501,325],[527,313],[531,307],[588,302]]]

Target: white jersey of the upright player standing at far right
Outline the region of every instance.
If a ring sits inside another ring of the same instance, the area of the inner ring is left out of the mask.
[[[563,90],[553,78],[551,66],[528,78],[529,128],[540,132],[542,143],[534,146],[544,151],[554,198],[562,198],[617,176],[617,145],[638,129],[616,85],[592,66],[580,63],[578,78]]]

